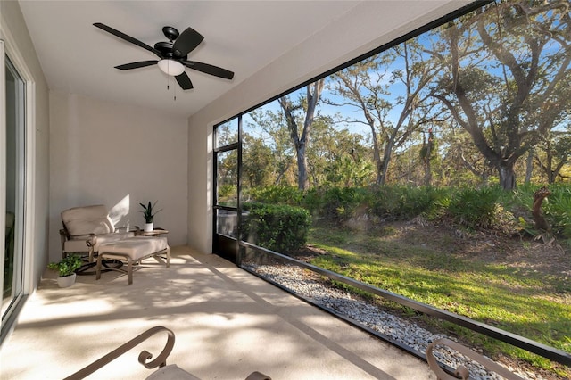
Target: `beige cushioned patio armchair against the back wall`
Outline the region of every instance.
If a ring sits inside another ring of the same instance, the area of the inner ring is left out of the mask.
[[[62,225],[62,258],[71,252],[85,252],[89,263],[95,262],[101,244],[133,237],[139,231],[137,226],[115,227],[103,204],[62,211]]]

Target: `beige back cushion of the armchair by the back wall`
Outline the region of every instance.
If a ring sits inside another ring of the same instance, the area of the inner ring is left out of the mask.
[[[109,234],[115,230],[103,204],[62,211],[62,222],[70,235]]]

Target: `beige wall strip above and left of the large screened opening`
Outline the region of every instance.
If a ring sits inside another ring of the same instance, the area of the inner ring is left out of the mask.
[[[192,184],[188,187],[189,245],[200,252],[211,252],[211,133],[214,124],[385,45],[470,1],[409,0],[406,4],[410,12],[406,19],[394,17],[392,3],[361,2],[189,118],[188,152],[192,162],[188,170]]]

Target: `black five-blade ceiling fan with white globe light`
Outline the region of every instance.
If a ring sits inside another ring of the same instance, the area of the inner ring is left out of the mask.
[[[152,47],[139,41],[137,38],[130,37],[119,30],[112,29],[111,27],[102,24],[101,22],[95,22],[93,25],[111,33],[113,36],[120,37],[131,44],[140,46],[149,52],[156,54],[160,58],[159,61],[125,63],[115,66],[115,69],[132,70],[156,64],[162,72],[175,77],[178,85],[182,87],[183,90],[193,88],[193,83],[190,81],[190,78],[188,78],[188,75],[186,75],[185,67],[202,71],[219,78],[234,78],[234,72],[232,71],[228,71],[208,63],[186,60],[188,53],[192,52],[198,45],[200,45],[201,42],[203,42],[204,39],[200,33],[192,28],[186,28],[182,34],[179,34],[178,30],[175,28],[164,27],[162,28],[162,33],[164,33],[165,37],[167,37],[169,41],[157,42],[154,44],[154,47]]]

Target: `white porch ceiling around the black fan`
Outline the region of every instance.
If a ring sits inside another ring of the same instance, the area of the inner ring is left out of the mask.
[[[130,103],[180,116],[199,111],[330,24],[338,22],[350,30],[351,25],[341,23],[343,15],[362,3],[354,0],[20,1],[50,90]],[[406,20],[410,5],[419,3],[422,2],[385,2],[386,12]],[[183,91],[174,78],[167,77],[157,66],[128,71],[114,69],[123,63],[155,60],[156,56],[95,28],[94,22],[102,22],[152,46],[167,40],[161,31],[163,26],[175,27],[180,32],[192,27],[204,40],[188,55],[188,60],[223,67],[234,71],[235,77],[228,81],[186,69],[194,89]]]

